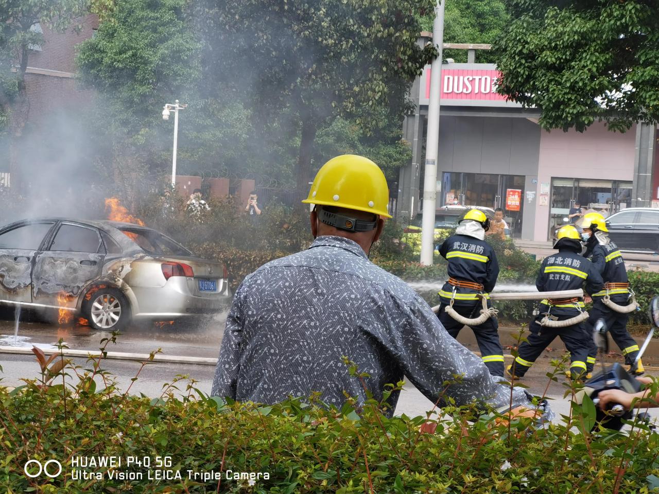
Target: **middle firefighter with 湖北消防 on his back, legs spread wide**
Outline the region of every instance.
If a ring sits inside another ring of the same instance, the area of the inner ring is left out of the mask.
[[[558,254],[542,261],[536,287],[540,292],[577,290],[585,285],[588,293],[602,289],[604,282],[597,269],[581,256],[581,236],[572,225],[559,229],[554,242]],[[583,298],[545,299],[540,314],[530,323],[530,335],[517,350],[513,365],[506,368],[510,377],[519,378],[529,370],[536,358],[558,336],[570,352],[570,375],[577,379],[585,374],[586,358],[592,343],[588,331],[588,313]]]

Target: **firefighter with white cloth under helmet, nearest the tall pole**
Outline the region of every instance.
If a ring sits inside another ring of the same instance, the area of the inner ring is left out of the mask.
[[[442,303],[438,317],[453,338],[465,325],[471,327],[482,361],[492,375],[503,377],[499,323],[496,311],[486,307],[499,276],[494,249],[484,240],[488,229],[490,220],[485,213],[470,209],[459,221],[455,234],[440,246],[440,254],[449,263],[449,279],[439,292]],[[479,312],[480,317],[471,319]]]

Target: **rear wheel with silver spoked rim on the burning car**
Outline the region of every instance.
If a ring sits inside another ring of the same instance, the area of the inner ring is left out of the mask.
[[[100,288],[92,292],[82,306],[82,314],[94,329],[105,331],[124,329],[130,321],[128,300],[117,288]]]

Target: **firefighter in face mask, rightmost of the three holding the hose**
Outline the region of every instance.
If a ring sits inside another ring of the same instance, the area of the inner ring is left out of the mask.
[[[604,319],[610,335],[625,356],[625,364],[629,365],[629,371],[641,375],[645,372],[641,360],[637,368],[634,368],[639,345],[627,332],[629,312],[636,310],[637,304],[629,288],[625,261],[617,245],[609,239],[606,220],[600,213],[585,215],[581,227],[586,244],[584,256],[590,258],[595,269],[604,279],[604,290],[592,294],[592,310],[588,324],[592,327],[595,321]],[[596,355],[597,346],[593,343],[588,353],[588,373],[592,373]]]

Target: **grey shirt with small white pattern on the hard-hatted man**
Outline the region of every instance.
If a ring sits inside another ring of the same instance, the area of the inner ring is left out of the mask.
[[[384,385],[405,375],[434,403],[444,381],[463,375],[446,393],[457,404],[482,399],[502,408],[510,402],[509,387],[497,384],[501,378],[446,332],[412,288],[338,236],[320,236],[308,250],[244,279],[227,318],[211,394],[272,404],[319,391],[321,400],[340,408],[346,391],[363,404],[366,393],[341,356],[370,375],[366,387],[377,400]],[[398,396],[387,400],[387,415]],[[529,406],[529,399],[515,388],[518,405]]]

